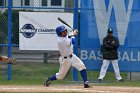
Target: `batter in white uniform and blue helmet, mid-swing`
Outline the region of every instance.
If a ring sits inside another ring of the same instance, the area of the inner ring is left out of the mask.
[[[61,80],[65,77],[70,67],[76,68],[80,71],[80,74],[84,81],[84,88],[89,88],[89,82],[87,80],[86,67],[83,62],[73,54],[73,44],[75,43],[75,35],[77,35],[76,31],[72,31],[70,36],[68,36],[67,29],[65,26],[59,26],[56,28],[56,33],[58,35],[58,47],[60,50],[60,68],[59,72],[49,77],[45,86],[49,86],[51,81],[53,80]]]

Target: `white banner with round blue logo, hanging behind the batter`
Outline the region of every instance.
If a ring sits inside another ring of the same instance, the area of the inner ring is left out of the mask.
[[[58,50],[55,29],[64,25],[58,21],[58,17],[73,26],[72,13],[20,12],[20,50]]]

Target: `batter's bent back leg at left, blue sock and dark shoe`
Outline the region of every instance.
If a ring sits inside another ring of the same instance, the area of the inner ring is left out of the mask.
[[[60,61],[59,72],[52,75],[51,77],[49,77],[45,82],[45,86],[49,86],[51,81],[63,79],[65,77],[66,73],[68,72],[68,70],[71,66],[71,63],[68,62],[69,60],[60,58],[59,61]]]

